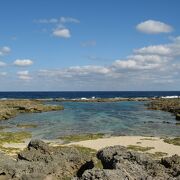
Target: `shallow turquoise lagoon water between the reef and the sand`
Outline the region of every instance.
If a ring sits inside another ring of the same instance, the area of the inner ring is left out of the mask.
[[[61,104],[65,110],[20,114],[1,124],[10,125],[13,131],[22,130],[16,128],[17,124],[37,124],[37,128],[28,131],[32,132],[33,137],[43,139],[99,132],[114,135],[180,136],[180,126],[176,125],[172,114],[147,110],[145,102],[51,104]]]

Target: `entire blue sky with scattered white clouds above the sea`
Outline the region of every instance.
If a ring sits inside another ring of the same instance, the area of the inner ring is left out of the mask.
[[[0,91],[180,90],[179,0],[2,0]]]

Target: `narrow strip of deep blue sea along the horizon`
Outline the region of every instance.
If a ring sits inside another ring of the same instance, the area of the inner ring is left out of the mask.
[[[114,98],[180,96],[180,91],[60,91],[60,92],[0,92],[0,98]]]

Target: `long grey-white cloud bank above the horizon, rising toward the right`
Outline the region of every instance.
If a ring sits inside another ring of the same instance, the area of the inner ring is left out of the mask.
[[[166,44],[135,49],[131,55],[108,66],[42,69],[33,75],[24,70],[18,71],[17,76],[30,82],[31,87],[34,84],[44,90],[176,90],[180,82],[179,59],[180,38],[176,37]]]

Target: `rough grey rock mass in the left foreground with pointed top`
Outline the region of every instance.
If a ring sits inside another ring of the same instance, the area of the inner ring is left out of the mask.
[[[0,160],[0,175],[8,179],[62,179],[73,177],[91,157],[73,147],[49,147],[40,140],[33,140],[18,159]],[[1,176],[0,176],[1,178]]]

